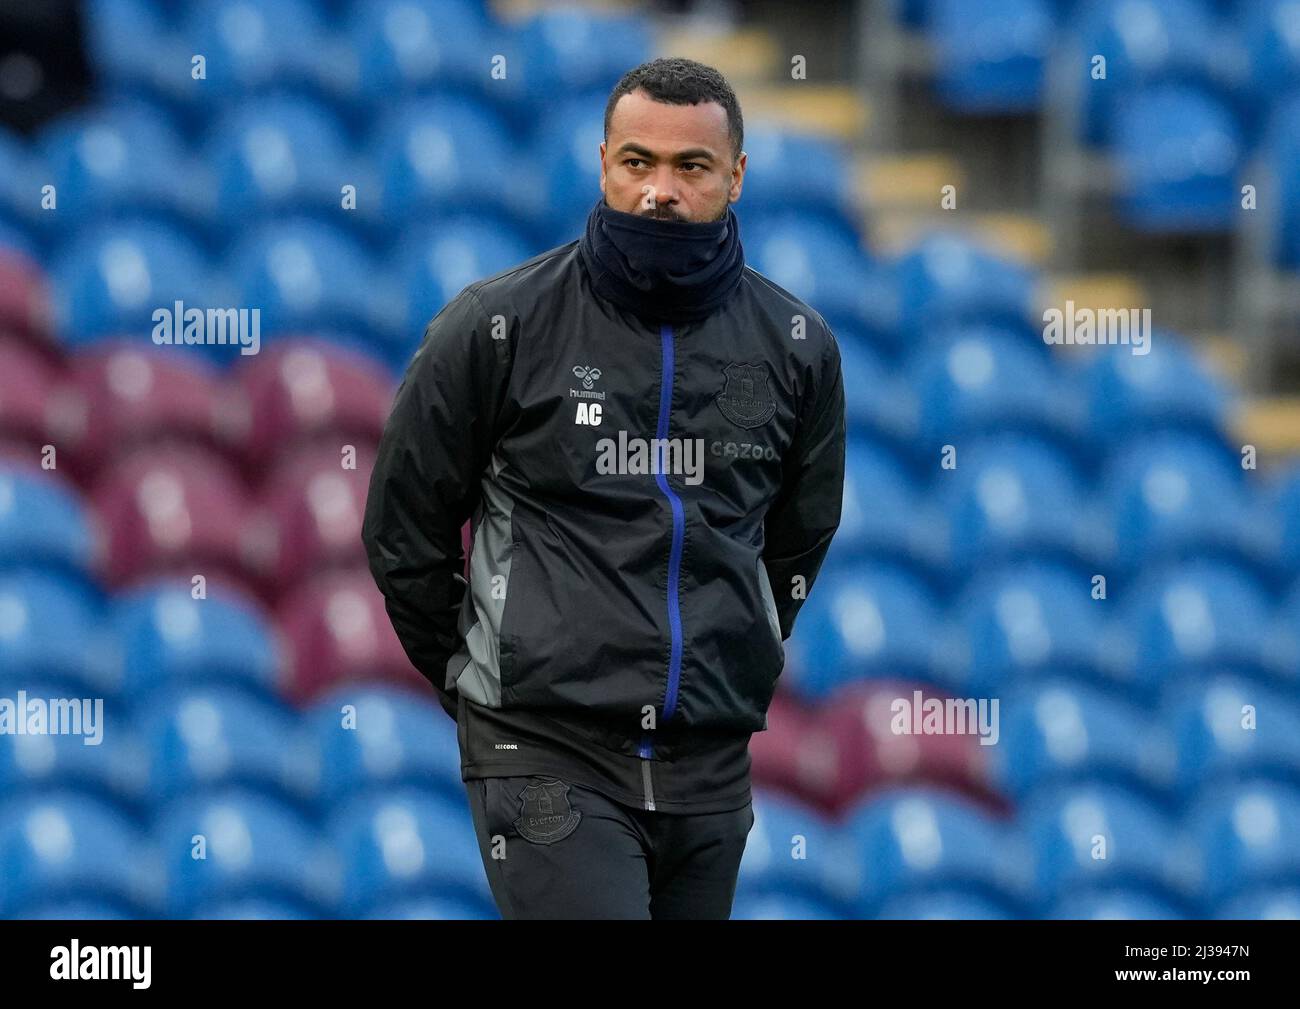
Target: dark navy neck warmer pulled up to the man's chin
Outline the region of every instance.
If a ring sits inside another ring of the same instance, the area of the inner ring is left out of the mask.
[[[597,200],[578,250],[595,293],[644,319],[694,322],[740,283],[745,252],[731,205],[718,221],[662,221]]]

